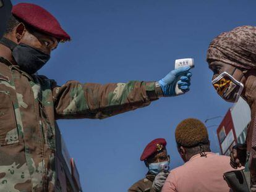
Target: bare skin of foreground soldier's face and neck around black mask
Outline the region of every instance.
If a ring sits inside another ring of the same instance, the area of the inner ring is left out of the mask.
[[[51,51],[58,47],[59,41],[53,36],[49,36],[36,31],[28,30],[23,23],[19,23],[10,33],[4,35],[5,38],[14,41],[16,44],[27,44],[35,49],[38,49],[46,54],[51,54]],[[9,61],[15,64],[12,58],[12,52],[6,46],[0,44],[0,53]]]

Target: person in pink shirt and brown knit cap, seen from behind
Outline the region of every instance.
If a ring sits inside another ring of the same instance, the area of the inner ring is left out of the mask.
[[[211,152],[208,132],[198,119],[185,119],[175,131],[177,151],[184,165],[169,172],[163,192],[229,191],[223,173],[233,170],[228,156]]]

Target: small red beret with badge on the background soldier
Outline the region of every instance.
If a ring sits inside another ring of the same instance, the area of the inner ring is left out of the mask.
[[[140,156],[140,161],[145,161],[148,157],[150,157],[155,152],[162,151],[165,148],[165,146],[166,146],[166,140],[164,140],[163,138],[158,138],[151,141],[150,143],[148,143],[148,145],[142,152],[142,156]]]

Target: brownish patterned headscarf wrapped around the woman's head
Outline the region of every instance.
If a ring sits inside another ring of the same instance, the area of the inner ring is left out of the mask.
[[[243,69],[256,68],[256,27],[242,26],[221,33],[207,51],[207,62],[221,61]]]

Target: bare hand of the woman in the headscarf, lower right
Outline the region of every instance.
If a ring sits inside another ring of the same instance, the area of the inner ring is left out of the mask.
[[[234,169],[242,167],[246,162],[246,144],[236,144],[230,153],[230,165]]]

